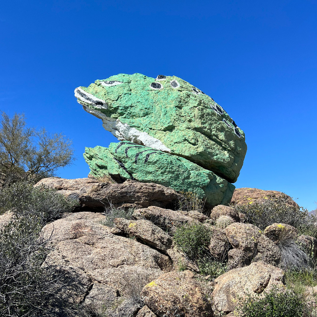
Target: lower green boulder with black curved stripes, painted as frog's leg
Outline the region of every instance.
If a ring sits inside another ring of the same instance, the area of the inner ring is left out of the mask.
[[[109,148],[87,147],[84,158],[93,176],[107,175],[118,182],[135,179],[195,192],[212,207],[229,204],[235,189],[225,179],[187,159],[129,141],[110,143]]]

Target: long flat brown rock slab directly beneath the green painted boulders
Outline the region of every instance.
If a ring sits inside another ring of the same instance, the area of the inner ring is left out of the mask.
[[[110,203],[121,206],[148,207],[173,206],[177,203],[179,194],[171,188],[153,183],[139,183],[126,180],[123,184],[113,184],[109,181],[88,178],[43,178],[35,186],[46,185],[58,192],[76,199],[81,206],[105,207]]]

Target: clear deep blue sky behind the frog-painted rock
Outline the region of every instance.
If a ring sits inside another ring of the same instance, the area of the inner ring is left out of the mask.
[[[248,152],[236,187],[317,206],[317,2],[1,1],[0,109],[84,147],[117,140],[74,88],[119,73],[175,75],[224,107]]]

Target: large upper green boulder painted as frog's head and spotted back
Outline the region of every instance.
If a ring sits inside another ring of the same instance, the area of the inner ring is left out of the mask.
[[[175,76],[118,74],[75,89],[83,108],[119,140],[185,158],[235,182],[247,150],[221,106]]]

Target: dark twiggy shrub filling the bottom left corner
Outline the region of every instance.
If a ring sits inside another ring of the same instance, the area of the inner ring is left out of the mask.
[[[0,230],[0,316],[84,316],[62,294],[68,275],[43,265],[50,249],[39,218],[19,217]]]

